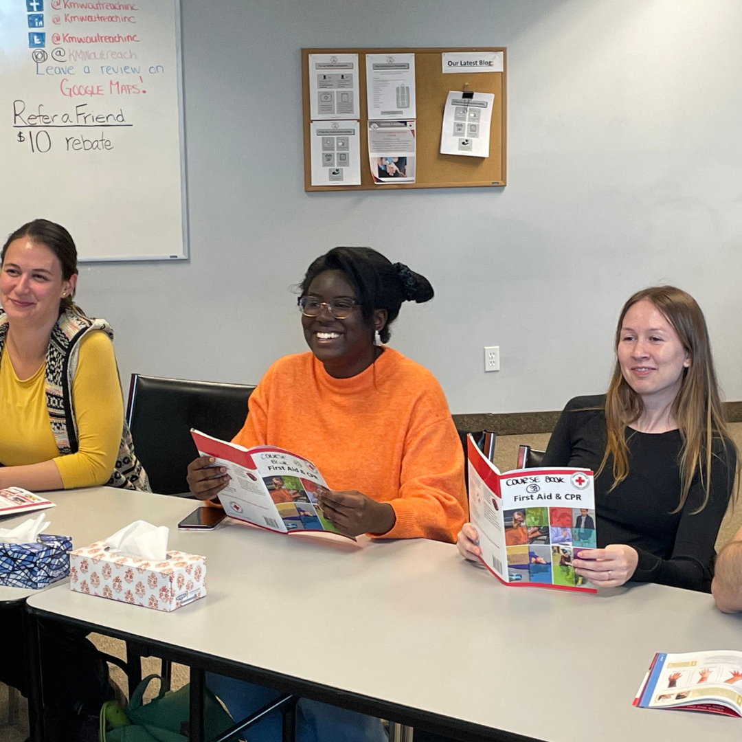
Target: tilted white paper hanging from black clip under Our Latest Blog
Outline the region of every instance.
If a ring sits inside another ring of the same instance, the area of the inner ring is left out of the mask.
[[[443,111],[441,154],[489,157],[494,102],[494,93],[464,98],[462,91],[450,91]]]

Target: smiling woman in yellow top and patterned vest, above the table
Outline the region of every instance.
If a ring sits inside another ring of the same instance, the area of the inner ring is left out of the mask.
[[[0,488],[148,490],[124,423],[113,332],[73,303],[77,251],[37,219],[0,269]]]

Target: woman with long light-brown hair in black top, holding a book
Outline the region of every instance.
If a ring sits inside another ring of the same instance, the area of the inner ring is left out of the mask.
[[[709,591],[714,545],[737,450],[726,433],[708,331],[695,300],[673,286],[623,307],[608,393],[571,400],[544,466],[592,469],[597,545],[574,559],[599,587],[627,580]],[[479,556],[470,524],[459,551]]]

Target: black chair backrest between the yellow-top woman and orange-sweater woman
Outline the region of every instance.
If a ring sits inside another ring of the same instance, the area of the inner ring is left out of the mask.
[[[153,492],[188,492],[188,464],[198,456],[191,427],[231,440],[247,416],[247,398],[255,387],[131,375],[126,413],[134,450]]]

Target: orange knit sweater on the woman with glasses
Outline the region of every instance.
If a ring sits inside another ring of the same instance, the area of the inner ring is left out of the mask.
[[[443,390],[388,347],[351,378],[332,378],[311,352],[280,358],[233,442],[286,448],[331,489],[389,502],[397,521],[383,538],[453,542],[467,519],[464,454]]]

